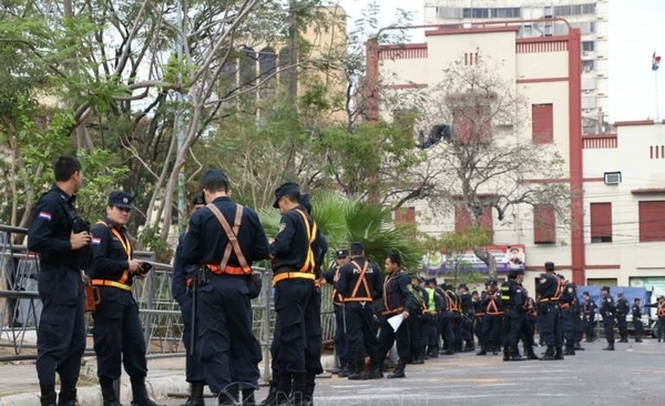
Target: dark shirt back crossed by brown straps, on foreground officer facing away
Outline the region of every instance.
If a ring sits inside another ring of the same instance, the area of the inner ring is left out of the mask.
[[[233,229],[236,215],[236,203],[228,197],[217,197],[213,201],[228,225]],[[243,207],[241,229],[238,230],[238,244],[247,264],[268,257],[268,238],[260,225],[258,215],[249,207]],[[183,243],[183,263],[187,265],[213,264],[218,265],[226,250],[228,238],[222,224],[213,212],[203,207],[197,210],[190,219],[190,226]],[[238,258],[232,250],[228,260],[229,266],[239,266]]]

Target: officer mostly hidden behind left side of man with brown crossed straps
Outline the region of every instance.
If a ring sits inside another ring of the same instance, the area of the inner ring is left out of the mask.
[[[197,193],[192,200],[192,214],[203,206],[205,206],[203,193]],[[203,365],[190,351],[192,346],[192,296],[188,293],[188,285],[192,283],[192,276],[196,271],[196,266],[190,265],[186,267],[183,263],[185,233],[186,231],[181,233],[177,238],[171,281],[171,295],[181,306],[184,325],[183,344],[187,351],[187,354],[185,355],[185,379],[190,383],[190,397],[182,406],[205,406],[205,400],[203,398],[203,386],[205,385]]]

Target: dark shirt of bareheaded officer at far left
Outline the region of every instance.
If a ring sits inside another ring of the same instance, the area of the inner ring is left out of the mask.
[[[37,202],[28,227],[28,250],[39,253],[41,262],[73,265],[70,235],[75,200],[54,184]]]

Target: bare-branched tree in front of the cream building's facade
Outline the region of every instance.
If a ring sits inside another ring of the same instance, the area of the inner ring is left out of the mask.
[[[570,192],[561,182],[564,161],[552,143],[532,139],[528,102],[500,71],[488,60],[456,63],[441,83],[421,93],[422,125],[449,126],[428,149],[431,163],[447,169],[439,186],[448,206],[466,211],[474,227],[492,211],[509,223],[518,205],[548,205],[565,221]],[[493,256],[478,245],[473,251],[495,275]]]

